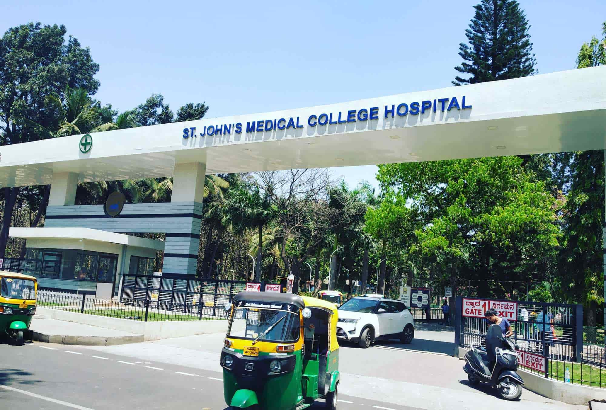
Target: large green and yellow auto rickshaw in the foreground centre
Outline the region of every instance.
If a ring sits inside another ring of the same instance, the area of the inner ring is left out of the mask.
[[[232,409],[299,410],[325,398],[335,410],[339,382],[335,304],[275,292],[241,292],[225,306],[221,351],[225,402]]]

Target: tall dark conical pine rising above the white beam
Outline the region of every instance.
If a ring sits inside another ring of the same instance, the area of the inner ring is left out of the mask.
[[[474,5],[476,14],[471,19],[465,36],[469,44],[459,45],[464,61],[454,67],[469,78],[456,76],[453,84],[476,84],[525,77],[536,73],[534,54],[528,34],[528,21],[515,0],[482,0]]]

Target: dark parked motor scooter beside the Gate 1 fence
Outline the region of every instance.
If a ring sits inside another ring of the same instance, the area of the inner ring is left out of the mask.
[[[493,349],[494,354],[490,354]],[[516,345],[502,336],[498,324],[491,324],[486,335],[486,349],[472,347],[465,354],[467,379],[471,386],[480,382],[499,389],[506,400],[517,400],[522,395],[524,380],[519,376]]]

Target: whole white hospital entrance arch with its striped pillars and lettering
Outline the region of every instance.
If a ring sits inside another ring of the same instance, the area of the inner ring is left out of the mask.
[[[593,67],[15,144],[1,147],[0,187],[51,185],[45,227],[12,236],[164,232],[162,271],[191,274],[207,173],[604,150],[604,78],[606,67]],[[173,176],[170,203],[125,204],[116,218],[74,205],[79,182],[164,176]]]

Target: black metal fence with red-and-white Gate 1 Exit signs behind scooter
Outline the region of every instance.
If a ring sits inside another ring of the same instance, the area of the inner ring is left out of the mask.
[[[521,368],[565,383],[606,387],[604,333],[582,325],[581,305],[457,297],[458,347],[485,346],[489,308],[510,321]]]

